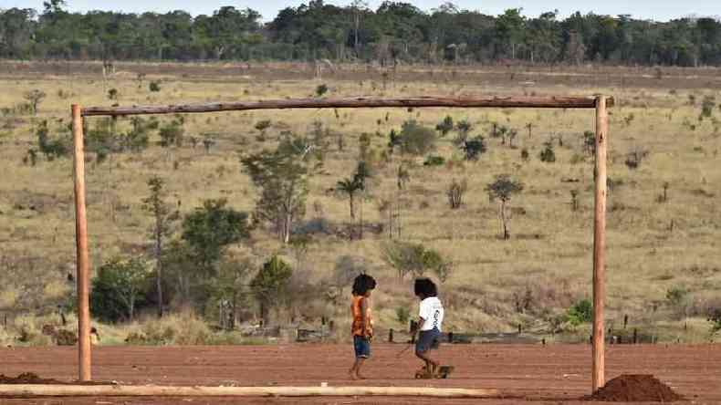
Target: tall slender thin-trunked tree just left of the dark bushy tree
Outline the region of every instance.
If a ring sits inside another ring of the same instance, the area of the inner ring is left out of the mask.
[[[150,195],[142,199],[142,209],[152,215],[151,236],[155,255],[155,286],[158,294],[158,317],[162,317],[162,247],[163,240],[172,235],[172,223],[178,220],[179,213],[165,202],[167,192],[165,182],[158,176],[148,180]]]

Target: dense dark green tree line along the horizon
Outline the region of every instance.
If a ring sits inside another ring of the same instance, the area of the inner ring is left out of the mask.
[[[669,22],[558,11],[499,16],[445,3],[429,12],[386,1],[376,10],[323,0],[287,7],[264,24],[250,8],[212,16],[0,9],[0,57],[115,60],[317,60],[397,63],[569,63],[719,66],[721,22]]]

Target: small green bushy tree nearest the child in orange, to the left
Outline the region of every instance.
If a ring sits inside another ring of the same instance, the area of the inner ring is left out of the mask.
[[[260,268],[250,287],[260,305],[260,316],[264,324],[268,323],[268,312],[278,306],[287,291],[287,283],[293,275],[293,269],[277,255],[271,257]]]

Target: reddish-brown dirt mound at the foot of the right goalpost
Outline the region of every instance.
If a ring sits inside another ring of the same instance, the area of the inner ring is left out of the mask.
[[[674,402],[684,397],[650,374],[622,374],[611,379],[588,400],[608,402]]]

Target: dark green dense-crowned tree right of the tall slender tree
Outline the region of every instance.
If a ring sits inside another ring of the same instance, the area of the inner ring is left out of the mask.
[[[227,207],[227,200],[205,200],[183,219],[183,241],[187,242],[198,270],[213,275],[225,248],[250,236],[248,214]]]

